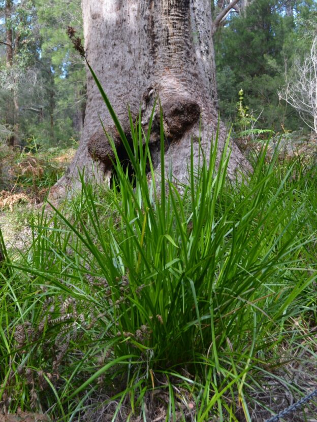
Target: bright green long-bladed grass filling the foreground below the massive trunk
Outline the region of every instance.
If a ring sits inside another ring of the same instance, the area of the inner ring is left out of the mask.
[[[111,190],[83,183],[64,211],[34,217],[29,249],[2,264],[2,408],[63,421],[152,421],[158,409],[251,420],[255,406],[268,417],[252,392],[282,377],[281,350],[314,356],[315,168],[268,163],[264,148],[230,183],[229,144],[216,167],[215,138],[181,195],[163,173],[157,190],[150,129],[131,123],[130,145],[113,117],[134,180],[117,157]],[[161,137],[163,162],[163,125]]]

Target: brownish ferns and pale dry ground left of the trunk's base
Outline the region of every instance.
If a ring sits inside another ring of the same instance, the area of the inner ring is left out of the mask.
[[[0,227],[7,247],[21,250],[30,241],[30,216],[70,164],[75,149],[20,150],[0,147]]]

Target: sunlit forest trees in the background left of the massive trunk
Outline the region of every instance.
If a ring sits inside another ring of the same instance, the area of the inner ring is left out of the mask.
[[[65,30],[81,27],[80,2],[0,1],[0,16],[0,138],[55,145],[76,137],[85,71]]]

